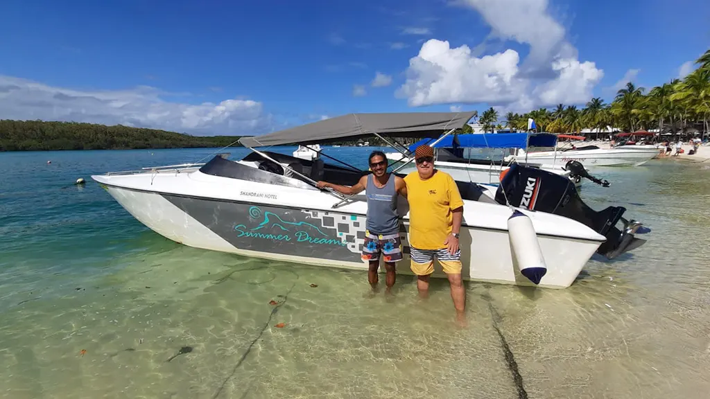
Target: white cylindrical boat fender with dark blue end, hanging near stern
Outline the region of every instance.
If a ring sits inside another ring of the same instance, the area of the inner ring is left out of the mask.
[[[547,274],[547,265],[532,220],[517,209],[513,211],[508,218],[508,237],[510,249],[520,267],[520,274],[535,285],[540,284],[542,277]]]

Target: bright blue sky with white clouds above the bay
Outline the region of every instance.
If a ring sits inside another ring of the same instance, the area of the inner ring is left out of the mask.
[[[0,118],[195,134],[610,101],[710,47],[699,0],[6,0],[0,15]]]

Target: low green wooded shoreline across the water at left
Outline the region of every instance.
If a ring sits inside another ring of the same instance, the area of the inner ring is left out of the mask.
[[[190,136],[122,125],[0,120],[0,151],[215,148],[237,140],[239,136]]]

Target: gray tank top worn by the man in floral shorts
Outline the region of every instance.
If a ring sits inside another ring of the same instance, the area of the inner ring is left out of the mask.
[[[366,227],[371,234],[396,234],[399,231],[399,216],[397,214],[397,189],[395,176],[390,175],[385,187],[375,185],[375,176],[367,177],[365,187],[367,196]]]

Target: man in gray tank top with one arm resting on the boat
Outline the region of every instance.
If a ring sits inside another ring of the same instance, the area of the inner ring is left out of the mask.
[[[395,284],[395,262],[402,260],[402,243],[399,235],[398,195],[407,197],[407,187],[401,177],[387,173],[387,158],[382,151],[373,151],[368,158],[372,174],[360,177],[351,187],[318,182],[319,188],[329,187],[344,195],[355,195],[365,191],[367,197],[367,218],[365,243],[362,258],[370,263],[368,280],[375,289],[378,283],[377,270],[382,254],[387,270],[387,290]]]

